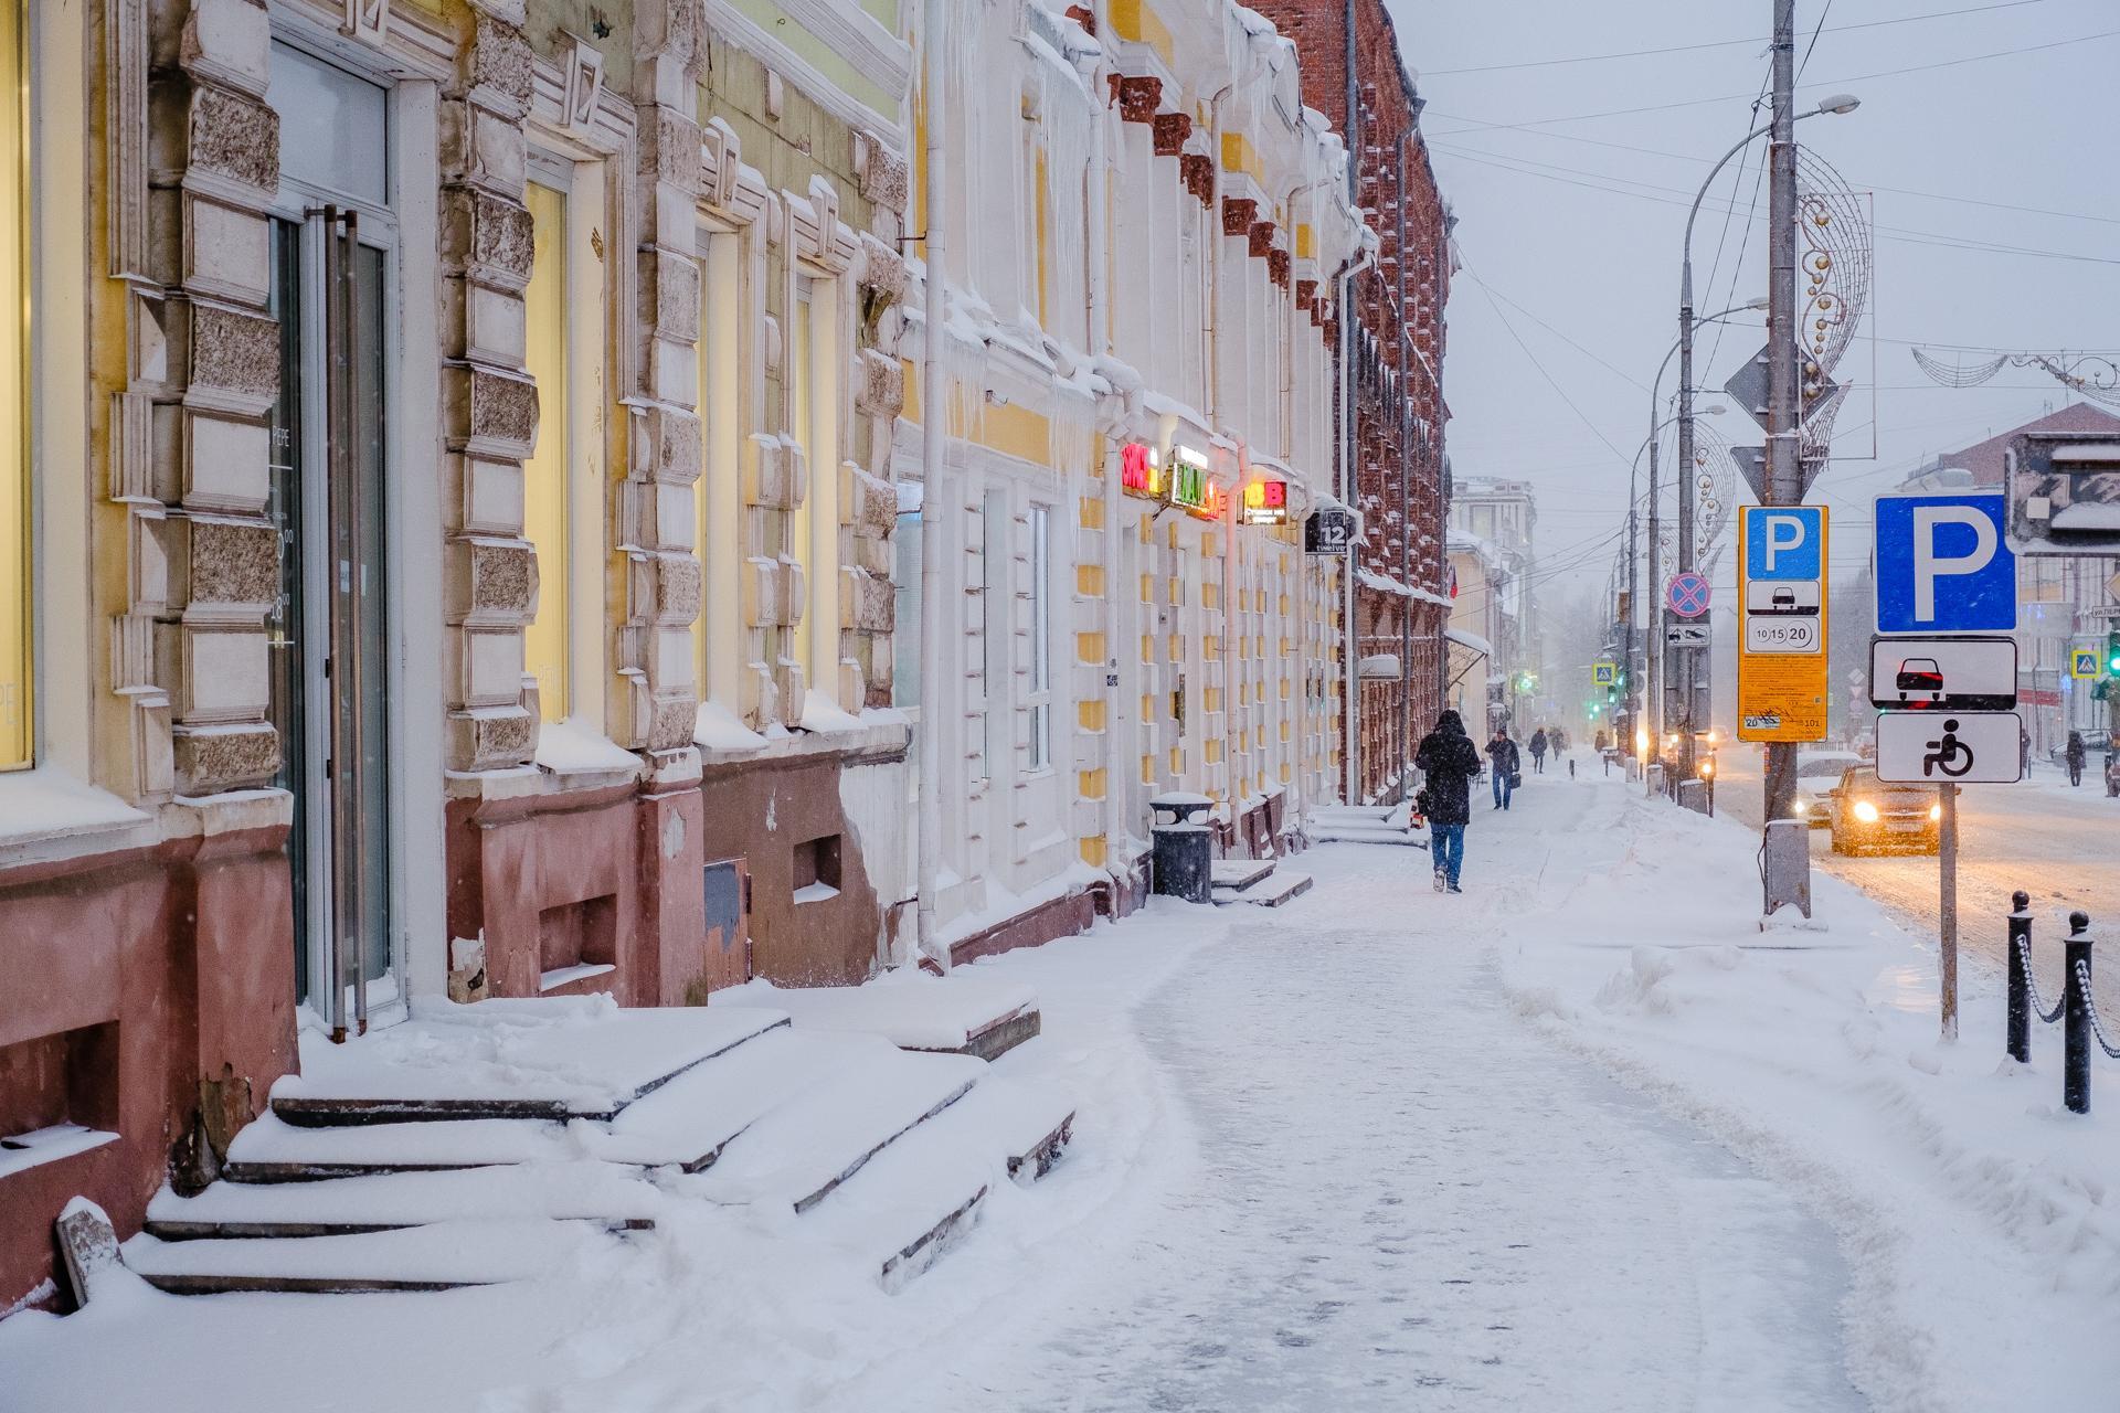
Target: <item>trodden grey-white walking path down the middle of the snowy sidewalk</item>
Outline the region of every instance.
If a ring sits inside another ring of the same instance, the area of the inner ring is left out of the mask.
[[[893,1407],[1861,1407],[1827,1229],[1509,1008],[1492,947],[1550,924],[1596,801],[1518,799],[1463,898],[1420,852],[1310,854],[1310,898],[1155,994],[1194,1135],[1141,1246]]]

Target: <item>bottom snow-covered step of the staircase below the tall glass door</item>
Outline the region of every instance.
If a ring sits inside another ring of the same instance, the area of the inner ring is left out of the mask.
[[[352,1294],[555,1275],[621,1239],[589,1222],[515,1218],[331,1237],[163,1241],[142,1233],[123,1246],[123,1258],[151,1286],[172,1294]]]

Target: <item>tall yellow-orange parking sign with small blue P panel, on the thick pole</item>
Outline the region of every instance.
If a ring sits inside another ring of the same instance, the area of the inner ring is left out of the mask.
[[[1825,739],[1825,506],[1736,517],[1736,735]]]

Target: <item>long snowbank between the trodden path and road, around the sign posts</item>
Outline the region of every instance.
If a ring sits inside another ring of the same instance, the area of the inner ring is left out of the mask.
[[[2092,1078],[2109,1116],[2069,1114],[2059,1032],[2008,1061],[1978,960],[1942,1044],[1933,941],[1825,875],[1815,924],[1762,932],[1747,830],[1607,797],[1497,938],[1518,1013],[1808,1197],[1876,1407],[2120,1407],[2120,1068]]]

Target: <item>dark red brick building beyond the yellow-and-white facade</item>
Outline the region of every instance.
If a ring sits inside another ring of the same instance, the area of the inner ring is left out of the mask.
[[[1355,318],[1353,502],[1367,523],[1357,650],[1401,665],[1397,680],[1361,684],[1361,792],[1393,799],[1399,763],[1442,710],[1448,665],[1450,409],[1442,366],[1452,216],[1435,186],[1420,136],[1423,100],[1384,0],[1253,0],[1253,8],[1295,40],[1304,102],[1348,136],[1353,197],[1378,235],[1378,258],[1355,273],[1346,309]]]

